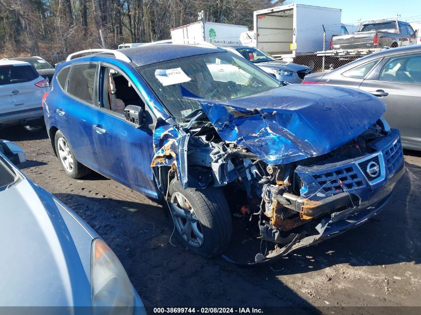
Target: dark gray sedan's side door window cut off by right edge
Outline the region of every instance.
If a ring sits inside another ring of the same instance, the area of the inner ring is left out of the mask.
[[[421,83],[421,54],[392,58],[380,72],[379,80]]]

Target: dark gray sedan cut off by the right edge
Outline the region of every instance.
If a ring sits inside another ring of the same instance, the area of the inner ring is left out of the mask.
[[[421,45],[386,49],[330,72],[307,75],[303,83],[356,88],[381,98],[404,148],[421,151]]]

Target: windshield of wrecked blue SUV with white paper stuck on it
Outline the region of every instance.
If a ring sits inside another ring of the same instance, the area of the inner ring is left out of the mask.
[[[177,121],[201,108],[196,101],[183,98],[180,87],[199,98],[228,101],[281,86],[270,75],[226,52],[164,61],[138,71]]]

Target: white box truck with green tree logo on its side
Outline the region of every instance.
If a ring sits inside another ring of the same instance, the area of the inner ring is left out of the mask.
[[[203,11],[199,13],[200,20],[171,29],[171,39],[174,44],[198,44],[208,42],[215,46],[241,45],[240,35],[248,31],[244,25],[205,22]]]

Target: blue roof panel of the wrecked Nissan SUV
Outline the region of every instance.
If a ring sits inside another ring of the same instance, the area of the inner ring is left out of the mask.
[[[159,44],[123,48],[119,49],[119,52],[122,52],[131,58],[132,62],[140,67],[162,61],[223,51],[216,47],[213,48],[199,45]]]

